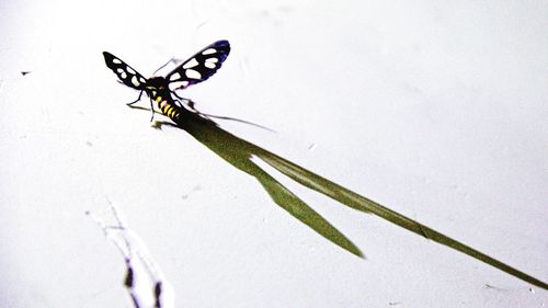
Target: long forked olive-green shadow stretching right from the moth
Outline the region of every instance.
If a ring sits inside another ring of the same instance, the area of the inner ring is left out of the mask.
[[[385,220],[398,225],[408,231],[414,232],[426,239],[460,251],[476,260],[482,261],[493,267],[496,267],[512,276],[521,278],[533,285],[548,289],[548,284],[537,280],[515,267],[512,267],[494,258],[480,252],[469,246],[454,240],[425,225],[410,219],[397,212],[389,209],[372,199],[368,199],[357,193],[354,193],[334,182],[329,181],[300,166],[297,166],[273,152],[265,150],[254,144],[243,140],[220,128],[217,123],[205,118],[199,114],[183,110],[185,113],[181,121],[175,124],[171,122],[156,122],[155,127],[161,129],[163,125],[184,129],[196,140],[214,151],[228,163],[237,169],[254,176],[271,198],[292,216],[313,229],[316,232],[345,249],[346,251],[363,258],[362,251],[328,220],[321,217],[309,205],[293,194],[284,185],[267,174],[253,161],[251,157],[255,156],[264,162],[278,170],[289,179],[301,185],[319,192],[334,201],[351,207],[353,209],[376,215]]]

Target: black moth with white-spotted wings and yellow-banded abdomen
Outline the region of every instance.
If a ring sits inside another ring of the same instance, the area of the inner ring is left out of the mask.
[[[152,116],[155,112],[152,100],[155,100],[160,110],[171,117],[171,111],[181,107],[180,104],[173,106],[174,102],[180,103],[179,100],[190,102],[190,100],[179,96],[175,91],[207,80],[222,66],[229,53],[230,44],[228,41],[217,41],[175,67],[165,77],[152,76],[148,79],[111,53],[104,52],[103,56],[106,66],[116,73],[121,83],[140,91],[137,100],[128,103],[128,105],[138,102],[142,92],[145,92],[150,98]]]

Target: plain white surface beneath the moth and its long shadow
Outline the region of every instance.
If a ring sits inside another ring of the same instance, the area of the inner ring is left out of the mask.
[[[546,290],[275,175],[367,259],[332,244],[128,109],[101,53],[148,76],[229,39],[185,93],[201,111],[266,125],[222,123],[546,282],[547,30],[546,1],[1,1],[0,306],[132,307],[84,215],[110,199],[178,307],[544,307]]]

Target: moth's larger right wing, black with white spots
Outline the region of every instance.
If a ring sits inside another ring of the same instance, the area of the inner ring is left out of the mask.
[[[178,66],[165,76],[169,90],[185,89],[212,77],[230,53],[228,41],[218,41]]]

